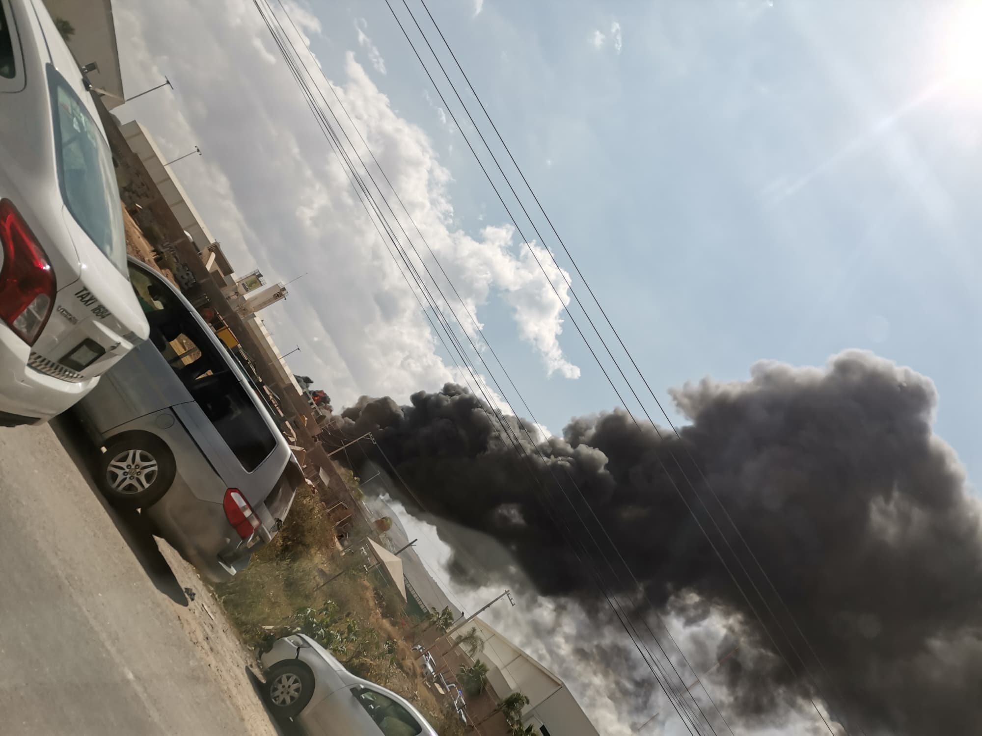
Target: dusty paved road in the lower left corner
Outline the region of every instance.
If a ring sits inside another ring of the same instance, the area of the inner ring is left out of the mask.
[[[153,538],[105,507],[75,461],[86,446],[56,432],[78,428],[0,429],[0,733],[241,736]]]

